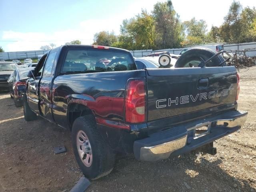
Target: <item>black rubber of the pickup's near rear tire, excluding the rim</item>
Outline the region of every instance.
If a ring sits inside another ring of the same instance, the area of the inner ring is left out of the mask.
[[[86,166],[82,162],[78,152],[77,136],[80,131],[83,131],[86,134],[91,146],[92,164],[90,166]],[[100,136],[93,115],[76,118],[72,126],[72,145],[76,161],[87,178],[98,179],[106,176],[112,171],[114,167],[115,153],[110,149],[110,146],[104,142],[102,136]]]

